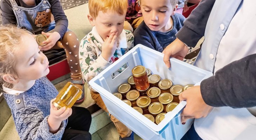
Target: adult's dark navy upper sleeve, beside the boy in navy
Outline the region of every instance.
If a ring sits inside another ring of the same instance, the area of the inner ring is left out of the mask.
[[[184,26],[176,37],[190,47],[195,47],[204,36],[206,24],[215,0],[202,0],[184,21]]]

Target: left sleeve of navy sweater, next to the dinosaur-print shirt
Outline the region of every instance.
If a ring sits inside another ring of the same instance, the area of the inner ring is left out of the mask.
[[[134,46],[137,44],[142,44],[148,48],[156,50],[155,43],[153,42],[153,40],[156,40],[156,38],[152,38],[149,31],[146,30],[146,25],[144,21],[138,28],[136,28],[133,35],[134,35]]]

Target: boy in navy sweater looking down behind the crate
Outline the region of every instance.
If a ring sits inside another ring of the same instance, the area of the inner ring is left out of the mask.
[[[134,45],[142,44],[162,52],[176,39],[185,17],[175,14],[178,0],[140,0],[144,21],[134,31]]]

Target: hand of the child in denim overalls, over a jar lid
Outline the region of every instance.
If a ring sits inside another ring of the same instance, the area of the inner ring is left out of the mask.
[[[60,39],[60,34],[56,31],[54,31],[53,33],[45,33],[42,31],[42,34],[46,35],[48,39],[42,42],[43,44],[46,44],[46,45],[40,46],[40,50],[49,50]]]

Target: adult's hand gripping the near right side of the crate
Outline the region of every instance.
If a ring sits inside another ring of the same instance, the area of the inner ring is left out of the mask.
[[[213,109],[212,106],[207,105],[201,95],[200,86],[193,86],[183,91],[179,99],[186,100],[187,105],[181,113],[181,123],[184,124],[190,118],[206,117]]]

